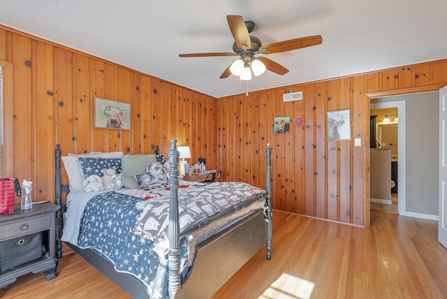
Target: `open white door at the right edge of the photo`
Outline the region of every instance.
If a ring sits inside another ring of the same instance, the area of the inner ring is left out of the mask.
[[[439,89],[439,229],[438,240],[447,248],[447,86]]]

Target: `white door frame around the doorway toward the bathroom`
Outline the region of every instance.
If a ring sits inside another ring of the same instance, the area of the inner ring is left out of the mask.
[[[397,212],[406,216],[406,177],[405,177],[405,101],[391,101],[383,103],[371,103],[371,99],[377,99],[378,97],[369,98],[369,110],[382,109],[382,108],[397,108],[397,117],[399,118],[399,124],[397,126],[397,155],[399,161],[397,162],[397,192],[399,199],[397,200]],[[371,115],[371,113],[369,113]],[[369,164],[370,165],[370,164]]]

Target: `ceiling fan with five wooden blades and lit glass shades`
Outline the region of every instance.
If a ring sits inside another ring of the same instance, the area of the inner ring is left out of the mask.
[[[297,50],[300,48],[319,45],[323,42],[320,35],[307,36],[304,38],[294,38],[288,41],[280,41],[270,45],[263,45],[261,40],[250,33],[256,29],[256,24],[252,21],[244,21],[240,15],[227,15],[228,26],[231,34],[235,38],[233,43],[233,53],[231,52],[210,52],[179,54],[179,57],[214,57],[214,56],[240,56],[233,64],[223,71],[220,78],[228,78],[229,75],[239,75],[240,80],[251,80],[251,71],[254,75],[261,75],[265,69],[284,75],[288,69],[265,57],[255,57],[256,54],[273,54]]]

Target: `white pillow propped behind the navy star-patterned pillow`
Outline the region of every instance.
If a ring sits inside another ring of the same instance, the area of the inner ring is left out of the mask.
[[[62,156],[62,162],[64,162],[64,168],[68,176],[68,185],[70,186],[70,192],[78,192],[83,190],[82,183],[84,177],[82,177],[82,171],[78,163],[79,157],[90,158],[121,158],[124,152],[91,152],[90,154],[70,154],[68,156]]]

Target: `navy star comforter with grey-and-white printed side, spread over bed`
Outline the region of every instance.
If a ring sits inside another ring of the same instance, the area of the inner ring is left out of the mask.
[[[228,207],[236,212],[230,220],[217,221],[206,233],[180,240],[181,277],[187,277],[198,239],[207,238],[235,223],[244,214],[263,207],[265,191],[251,185],[232,183],[184,184],[178,189],[180,232],[196,221],[207,219]],[[256,197],[256,200],[253,198]],[[253,207],[242,207],[251,198]],[[166,298],[168,286],[167,228],[169,188],[119,190],[98,194],[85,205],[78,246],[94,248],[119,272],[138,277],[151,298]]]

